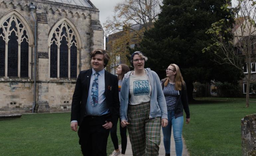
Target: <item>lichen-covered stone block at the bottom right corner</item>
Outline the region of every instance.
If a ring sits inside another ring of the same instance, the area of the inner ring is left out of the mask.
[[[256,114],[248,115],[241,120],[242,155],[256,155]]]

